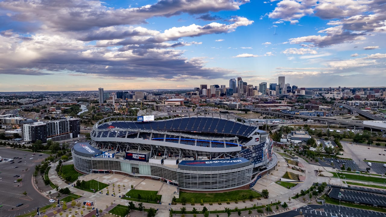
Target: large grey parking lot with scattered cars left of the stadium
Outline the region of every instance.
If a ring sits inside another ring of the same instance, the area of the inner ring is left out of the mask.
[[[31,152],[5,147],[0,148],[0,153],[2,158],[14,160],[14,163],[4,162],[0,164],[0,194],[2,195],[0,197],[0,204],[3,205],[0,209],[0,216],[12,217],[14,215],[21,215],[35,210],[36,207],[48,205],[48,199],[36,192],[31,182],[35,165],[40,164],[42,159],[47,157],[47,154],[39,156],[37,153],[36,156],[32,156],[33,153]],[[22,162],[19,163],[19,161]],[[17,177],[19,175],[20,177]],[[17,181],[17,179],[22,180]],[[24,195],[24,192],[27,195]],[[19,203],[23,203],[23,205],[16,207]]]

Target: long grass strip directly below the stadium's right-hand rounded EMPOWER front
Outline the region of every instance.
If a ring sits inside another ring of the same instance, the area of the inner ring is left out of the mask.
[[[248,200],[249,197],[258,198],[261,197],[261,194],[254,192],[252,190],[236,190],[231,192],[222,192],[222,193],[191,193],[191,192],[179,192],[179,198],[176,202],[181,203],[181,198],[185,197],[186,202],[190,203],[191,199],[194,198],[195,203],[200,203],[201,200],[204,203],[209,202],[227,202],[234,200]]]

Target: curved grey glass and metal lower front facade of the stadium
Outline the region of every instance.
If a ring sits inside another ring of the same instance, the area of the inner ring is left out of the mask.
[[[74,166],[84,173],[119,172],[138,177],[160,178],[185,190],[228,190],[248,185],[253,164],[222,170],[185,170],[161,164],[114,158],[90,158],[72,150]],[[232,166],[234,167],[234,166]]]

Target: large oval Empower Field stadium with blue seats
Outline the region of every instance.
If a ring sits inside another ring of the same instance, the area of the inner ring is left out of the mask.
[[[115,116],[98,121],[91,141],[71,149],[76,170],[213,192],[249,189],[277,163],[268,134],[248,119],[210,112],[157,119]]]

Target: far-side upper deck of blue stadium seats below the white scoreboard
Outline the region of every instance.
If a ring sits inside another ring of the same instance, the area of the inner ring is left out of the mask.
[[[248,137],[257,129],[256,126],[248,126],[230,120],[207,117],[190,117],[153,122],[106,122],[98,126],[98,129],[108,128],[215,132],[245,137]],[[107,135],[107,132],[103,132],[102,137],[107,137]],[[113,135],[115,134],[111,134],[111,136],[109,135],[108,137],[115,137]]]

